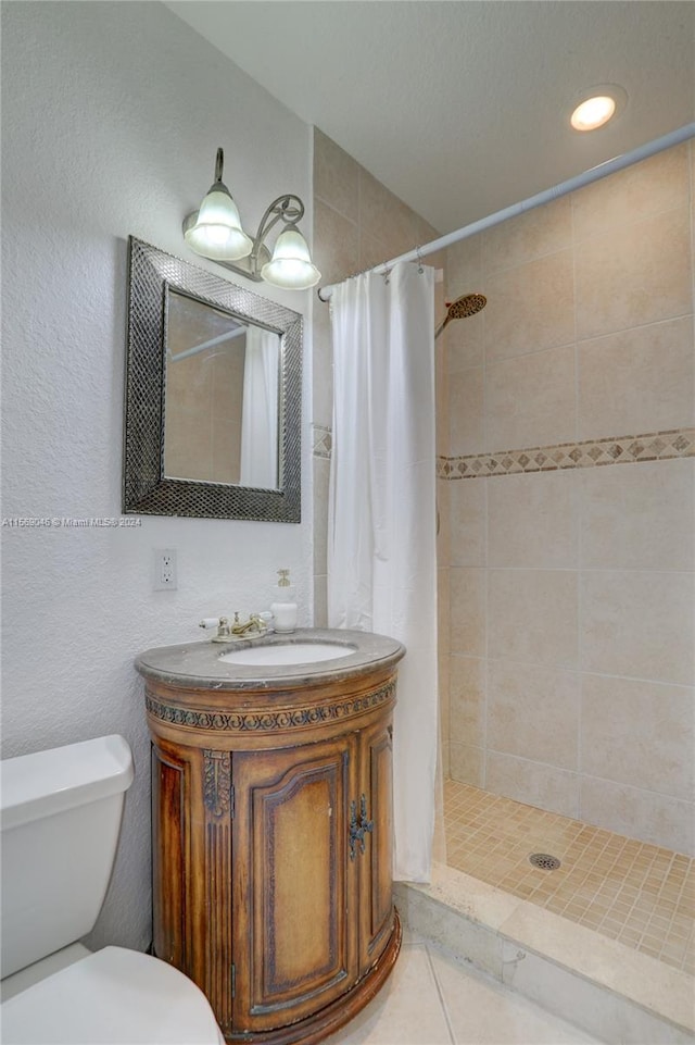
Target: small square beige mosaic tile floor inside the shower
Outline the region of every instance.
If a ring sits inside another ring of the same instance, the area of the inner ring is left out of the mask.
[[[695,860],[453,780],[444,822],[450,867],[695,974]]]

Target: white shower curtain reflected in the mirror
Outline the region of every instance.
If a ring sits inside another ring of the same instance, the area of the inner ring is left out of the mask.
[[[260,326],[247,329],[241,410],[242,486],[278,486],[280,338]]]

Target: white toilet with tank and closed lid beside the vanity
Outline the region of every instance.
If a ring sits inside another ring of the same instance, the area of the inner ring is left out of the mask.
[[[3,1045],[224,1045],[203,993],[123,947],[91,954],[132,756],[122,736],[0,763]]]

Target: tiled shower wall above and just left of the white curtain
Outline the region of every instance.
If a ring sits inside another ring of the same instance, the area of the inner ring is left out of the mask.
[[[318,128],[314,129],[314,256],[321,286],[435,239],[438,232]],[[428,264],[441,264],[428,258]],[[314,303],[314,622],[326,624],[326,535],[333,359],[328,304]]]

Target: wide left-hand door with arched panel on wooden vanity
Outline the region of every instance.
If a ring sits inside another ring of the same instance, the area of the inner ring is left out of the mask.
[[[235,1033],[302,1019],[356,979],[355,748],[351,736],[233,756]]]

